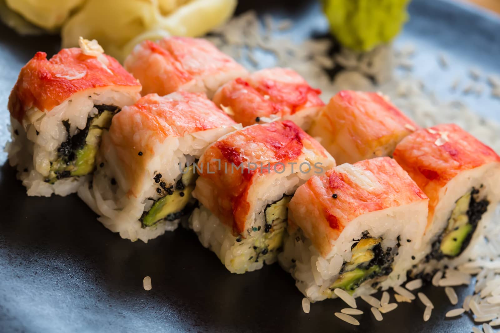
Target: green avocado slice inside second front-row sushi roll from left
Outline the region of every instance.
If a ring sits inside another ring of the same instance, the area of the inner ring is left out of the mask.
[[[184,208],[192,200],[191,193],[197,178],[192,164],[182,172],[173,193],[157,199],[151,208],[142,214],[142,228],[153,226],[161,220],[174,221],[182,216]]]

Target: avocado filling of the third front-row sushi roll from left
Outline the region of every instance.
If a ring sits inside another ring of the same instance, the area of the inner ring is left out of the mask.
[[[288,218],[288,203],[290,195],[284,194],[281,199],[267,204],[264,209],[265,225],[263,237],[257,238],[253,244],[255,256],[250,260],[257,262],[259,259],[265,260],[272,256],[272,253],[279,250],[283,244],[283,234]],[[253,228],[252,231],[259,231],[260,227]]]

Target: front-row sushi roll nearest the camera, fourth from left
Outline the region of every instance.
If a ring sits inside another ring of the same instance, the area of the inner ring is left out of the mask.
[[[400,285],[419,248],[428,198],[391,158],[312,176],[288,205],[279,263],[310,301]]]

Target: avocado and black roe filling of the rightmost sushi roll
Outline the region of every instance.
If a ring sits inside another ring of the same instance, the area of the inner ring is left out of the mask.
[[[432,244],[432,252],[426,258],[427,261],[431,258],[454,258],[465,250],[489,205],[488,200],[479,200],[478,194],[479,190],[472,188],[472,191],[456,201],[446,229]]]

